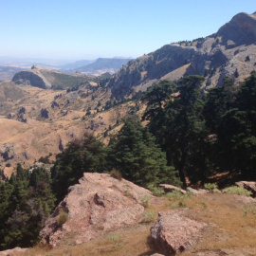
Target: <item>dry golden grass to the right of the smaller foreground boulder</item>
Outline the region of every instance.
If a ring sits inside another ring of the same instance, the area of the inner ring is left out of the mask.
[[[192,210],[186,214],[195,220],[208,223],[209,227],[200,243],[184,255],[192,255],[198,250],[255,247],[256,216],[252,210],[248,210],[248,204],[234,198],[234,195],[229,194],[207,194],[200,196],[198,201],[190,202]],[[202,205],[205,206],[204,209],[201,208]],[[248,210],[247,215],[243,209]]]

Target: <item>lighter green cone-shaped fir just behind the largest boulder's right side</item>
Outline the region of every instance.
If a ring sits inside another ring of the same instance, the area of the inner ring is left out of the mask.
[[[137,117],[126,119],[119,136],[109,146],[109,160],[122,177],[147,187],[149,184],[178,183],[174,168]]]

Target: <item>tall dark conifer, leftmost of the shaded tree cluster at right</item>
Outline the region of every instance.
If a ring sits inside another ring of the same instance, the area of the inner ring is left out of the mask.
[[[206,174],[202,171],[207,170],[204,161],[204,139],[207,131],[202,115],[203,101],[200,90],[203,81],[203,77],[189,76],[177,82],[175,86],[170,84],[168,95],[164,96],[164,91],[160,101],[151,94],[145,97],[149,109],[146,118],[151,120],[150,131],[166,151],[168,164],[179,171],[183,183],[186,175],[189,175],[192,181],[204,179]],[[156,85],[156,92],[157,87],[162,86]],[[154,92],[154,89],[152,91]],[[166,101],[165,104],[162,104],[162,100]]]

